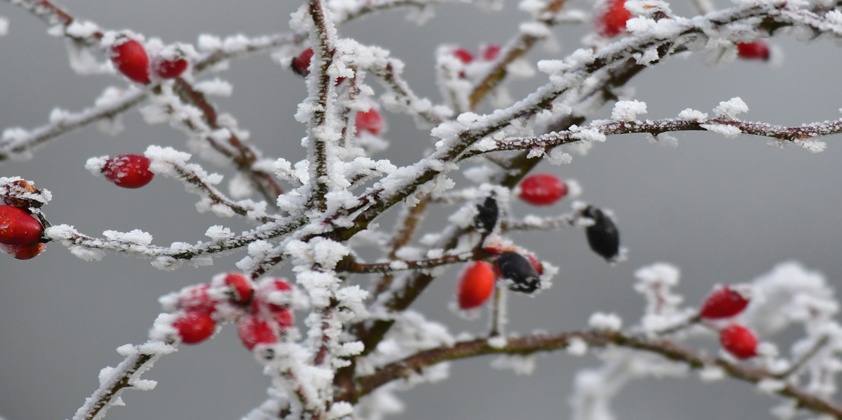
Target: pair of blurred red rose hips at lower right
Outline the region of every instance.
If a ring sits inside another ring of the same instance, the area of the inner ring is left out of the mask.
[[[748,304],[743,294],[730,287],[722,287],[705,299],[699,317],[706,320],[732,318],[742,313]],[[757,336],[739,324],[731,324],[720,330],[719,344],[738,359],[757,356]]]

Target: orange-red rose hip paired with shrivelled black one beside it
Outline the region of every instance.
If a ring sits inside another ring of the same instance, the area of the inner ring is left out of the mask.
[[[509,289],[516,292],[532,293],[541,287],[544,267],[535,257],[492,248],[486,248],[486,251],[500,255],[494,264],[475,261],[462,272],[456,290],[459,309],[474,309],[485,304],[494,293],[498,278],[512,280]]]

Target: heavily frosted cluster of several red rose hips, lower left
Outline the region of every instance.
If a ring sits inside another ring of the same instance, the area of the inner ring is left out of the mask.
[[[181,342],[197,344],[216,332],[218,322],[235,320],[237,334],[247,349],[277,343],[293,324],[289,305],[292,287],[267,278],[255,286],[248,277],[230,273],[210,285],[187,286],[177,294],[172,326]]]

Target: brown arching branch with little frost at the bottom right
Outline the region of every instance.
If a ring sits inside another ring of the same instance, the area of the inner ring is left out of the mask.
[[[584,342],[590,347],[619,346],[658,354],[670,361],[700,370],[718,367],[728,376],[741,381],[758,384],[776,380],[777,375],[760,368],[747,367],[723,358],[713,358],[701,352],[676,345],[666,340],[651,340],[614,331],[581,331],[555,335],[531,335],[507,338],[503,345],[492,345],[488,339],[463,341],[451,347],[419,352],[413,356],[382,366],[369,376],[359,378],[355,394],[343,398],[359,398],[394,380],[401,379],[422,368],[449,360],[465,359],[487,354],[530,355],[537,352],[563,350],[574,342]],[[494,343],[501,344],[501,343]],[[817,414],[826,414],[842,419],[842,407],[816,397],[790,383],[781,383],[774,393],[792,399],[805,409]]]

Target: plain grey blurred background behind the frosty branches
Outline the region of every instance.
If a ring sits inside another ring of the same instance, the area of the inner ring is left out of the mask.
[[[243,0],[123,1],[65,0],[74,15],[104,28],[128,28],[165,42],[195,42],[201,33],[220,36],[283,32],[297,2]],[[725,4],[720,4],[724,6]],[[467,5],[437,8],[426,26],[407,24],[403,12],[378,15],[341,29],[342,36],[377,44],[407,64],[406,78],[416,92],[440,101],[434,86],[432,58],[441,43],[471,51],[481,43],[504,43],[526,19],[509,1],[501,13],[478,13]],[[571,6],[590,10],[591,4]],[[678,13],[690,13],[673,3]],[[46,34],[42,22],[0,2],[0,16],[10,21],[0,38],[0,128],[33,128],[44,124],[54,107],[78,111],[90,106],[108,85],[126,82],[113,76],[80,77],[67,65],[64,41]],[[579,43],[585,27],[560,27],[554,33],[562,54]],[[720,101],[740,96],[750,112],[741,117],[777,124],[835,119],[842,106],[840,50],[832,41],[801,43],[792,36],[775,38],[785,52],[778,68],[737,61],[712,69],[696,55],[673,58],[635,78],[635,98],[646,101],[649,118],[673,117],[691,107],[705,112]],[[532,62],[553,54],[536,49]],[[558,56],[558,53],[555,54]],[[296,161],[304,156],[299,140],[304,127],[295,122],[297,103],[305,97],[301,79],[267,55],[236,60],[219,75],[234,86],[234,95],[213,98],[233,114],[252,140],[270,156]],[[207,77],[215,77],[208,75]],[[372,80],[373,82],[373,80]],[[537,81],[511,86],[515,97]],[[606,110],[606,114],[610,108]],[[381,155],[408,164],[428,147],[411,118],[386,114],[394,140]],[[124,190],[93,177],[85,160],[104,154],[140,153],[149,144],[186,150],[184,136],[166,126],[147,126],[136,110],[125,116],[126,131],[109,137],[94,128],[65,135],[39,150],[27,162],[0,164],[0,176],[21,176],[53,192],[45,208],[52,223],[76,226],[100,235],[103,230],[142,229],[157,244],[200,240],[205,229],[222,223],[232,230],[247,225],[210,214],[196,215],[195,196],[171,179],[156,179],[139,190]],[[842,146],[838,136],[829,148],[811,154],[797,147],[783,150],[767,140],[714,134],[677,134],[676,149],[648,144],[644,136],[609,138],[585,157],[562,167],[541,166],[563,178],[578,180],[582,199],[615,211],[628,261],[611,267],[592,254],[577,229],[517,236],[542,259],[561,267],[553,289],[535,299],[510,299],[511,328],[527,333],[541,328],[584,328],[594,311],[614,311],[632,324],[643,300],[632,291],[633,272],[642,265],[667,261],[682,269],[679,291],[688,302],[701,300],[715,283],[745,282],[777,262],[796,259],[839,284],[842,267]],[[220,170],[205,164],[209,170]],[[228,174],[228,172],[224,172]],[[550,209],[516,205],[516,214],[554,214]],[[446,213],[435,213],[446,214]],[[393,216],[384,218],[388,226]],[[440,229],[434,223],[425,230]],[[161,272],[148,261],[108,255],[85,262],[51,245],[31,261],[0,255],[0,416],[8,420],[63,419],[73,415],[97,386],[97,373],[121,360],[114,349],[146,339],[160,307],[160,295],[182,286],[207,282],[234,270],[237,254],[212,267]],[[417,304],[452,332],[480,333],[486,321],[464,321],[447,310],[453,300],[455,270],[425,293]],[[283,271],[281,274],[288,274]],[[367,285],[368,279],[354,281]],[[765,337],[764,337],[765,338]],[[790,337],[791,338],[791,337]],[[774,338],[773,338],[774,339]],[[788,350],[787,341],[778,341]],[[712,344],[712,343],[708,343]],[[568,418],[567,398],[574,373],[597,364],[596,358],[564,353],[541,355],[532,376],[515,376],[488,366],[490,358],[452,364],[452,377],[402,394],[404,419]],[[128,391],[126,407],[107,418],[237,419],[266,397],[268,378],[238,342],[235,328],[224,328],[214,340],[183,346],[161,359],[145,375],[159,381],[152,392]],[[615,401],[618,419],[765,418],[775,401],[736,381],[703,384],[687,380],[633,383]]]

